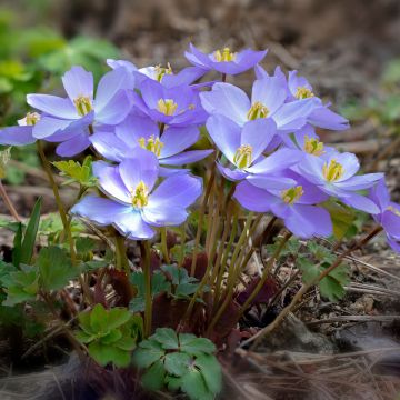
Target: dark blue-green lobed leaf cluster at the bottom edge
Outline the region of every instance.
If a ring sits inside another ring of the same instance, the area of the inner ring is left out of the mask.
[[[167,387],[192,400],[214,399],[221,390],[221,367],[216,346],[206,338],[159,328],[133,353],[133,363],[144,369],[142,384],[149,390]]]

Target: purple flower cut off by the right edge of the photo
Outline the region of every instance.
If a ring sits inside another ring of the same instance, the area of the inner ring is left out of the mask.
[[[370,189],[369,197],[379,208],[373,219],[384,229],[389,246],[400,252],[400,204],[390,200],[384,179]]]

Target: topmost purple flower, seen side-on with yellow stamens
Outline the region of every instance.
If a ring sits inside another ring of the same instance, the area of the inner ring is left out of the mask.
[[[190,51],[184,57],[192,64],[206,71],[214,70],[227,74],[238,74],[253,68],[267,54],[267,50],[254,51],[246,49],[239,52],[231,52],[229,48],[213,51],[206,54],[199,51],[193,44],[189,46]]]

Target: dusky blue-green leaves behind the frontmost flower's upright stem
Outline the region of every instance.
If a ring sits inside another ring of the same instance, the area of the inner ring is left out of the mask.
[[[142,272],[133,272],[130,276],[131,283],[137,289],[137,296],[130,301],[129,309],[132,312],[144,311],[144,276]],[[178,266],[162,266],[161,270],[154,271],[151,277],[152,298],[167,293],[173,300],[189,300],[199,288],[198,279],[190,277],[184,268]],[[208,287],[203,288],[209,290]],[[201,301],[199,298],[198,301]]]

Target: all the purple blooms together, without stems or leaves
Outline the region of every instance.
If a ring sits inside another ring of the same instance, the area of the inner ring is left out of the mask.
[[[400,206],[390,201],[383,174],[360,174],[354,154],[317,134],[319,128],[348,129],[348,121],[297,71],[286,76],[278,67],[269,74],[259,64],[266,53],[223,48],[207,54],[190,46],[192,66],[178,73],[170,64],[138,69],[107,60],[112,70],[96,96],[92,74],[73,67],[62,78],[67,97],[29,94],[33,110],[18,127],[1,130],[0,143],[57,142],[61,157],[91,148],[103,196],[84,197],[71,212],[131,239],[186,220],[202,181],[184,167],[214,152],[218,171],[236,184],[233,199],[244,209],[272,213],[300,238],[329,237],[324,204],[334,200],[372,214],[399,251]],[[256,74],[250,98],[226,82],[249,69]],[[209,71],[221,81],[200,82]],[[201,132],[210,149],[192,148]]]

